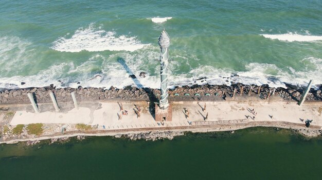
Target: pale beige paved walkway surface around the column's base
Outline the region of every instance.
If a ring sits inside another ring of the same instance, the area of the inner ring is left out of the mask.
[[[145,127],[169,127],[169,126],[190,126],[203,124],[203,122],[225,123],[230,122],[252,122],[252,121],[284,121],[290,123],[301,123],[307,119],[313,119],[312,125],[322,126],[322,102],[306,103],[301,107],[295,102],[287,104],[285,102],[206,102],[206,110],[203,111],[205,102],[175,102],[172,104],[173,121],[165,122],[164,125],[154,121],[153,115],[149,112],[147,102],[122,102],[123,109],[128,111],[128,115],[123,115],[119,119],[120,106],[118,102],[106,103],[83,103],[80,108],[63,110],[62,112],[52,111],[52,107],[40,106],[40,113],[33,113],[31,106],[26,110],[16,111],[11,125],[17,124],[89,124],[99,125],[98,129],[129,129]],[[141,109],[140,117],[134,110]],[[186,118],[186,111],[189,117]],[[45,109],[48,109],[45,111]],[[255,109],[255,116],[251,110]],[[208,113],[208,118],[205,117]],[[249,118],[247,119],[247,116]],[[253,119],[255,116],[255,119]]]

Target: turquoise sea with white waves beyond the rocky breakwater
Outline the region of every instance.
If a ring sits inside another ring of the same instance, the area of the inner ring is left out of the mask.
[[[322,84],[322,1],[3,0],[0,17],[0,88],[121,88],[141,71],[156,88],[163,28],[170,85]]]

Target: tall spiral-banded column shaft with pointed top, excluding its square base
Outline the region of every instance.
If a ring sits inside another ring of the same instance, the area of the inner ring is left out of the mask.
[[[169,106],[168,102],[168,59],[170,37],[168,33],[163,30],[160,34],[158,44],[160,46],[160,76],[161,76],[161,97],[159,106],[161,109],[166,109]]]

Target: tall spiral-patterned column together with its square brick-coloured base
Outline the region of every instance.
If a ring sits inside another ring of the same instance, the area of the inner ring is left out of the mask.
[[[160,46],[160,76],[161,76],[161,96],[159,105],[155,105],[155,121],[172,121],[172,106],[168,102],[168,59],[170,37],[163,30],[160,34],[158,44]]]

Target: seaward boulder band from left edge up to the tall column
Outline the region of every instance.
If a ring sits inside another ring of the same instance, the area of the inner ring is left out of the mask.
[[[41,88],[4,89],[0,92],[0,104],[30,103],[27,93],[31,93],[37,103],[51,103],[50,92],[55,94],[58,103],[73,102],[70,94],[73,91],[79,102],[94,100],[105,101],[110,99],[149,101],[152,94],[160,94],[159,90],[148,88],[116,89],[112,86],[110,89],[92,87],[56,89],[55,87],[49,86]]]

